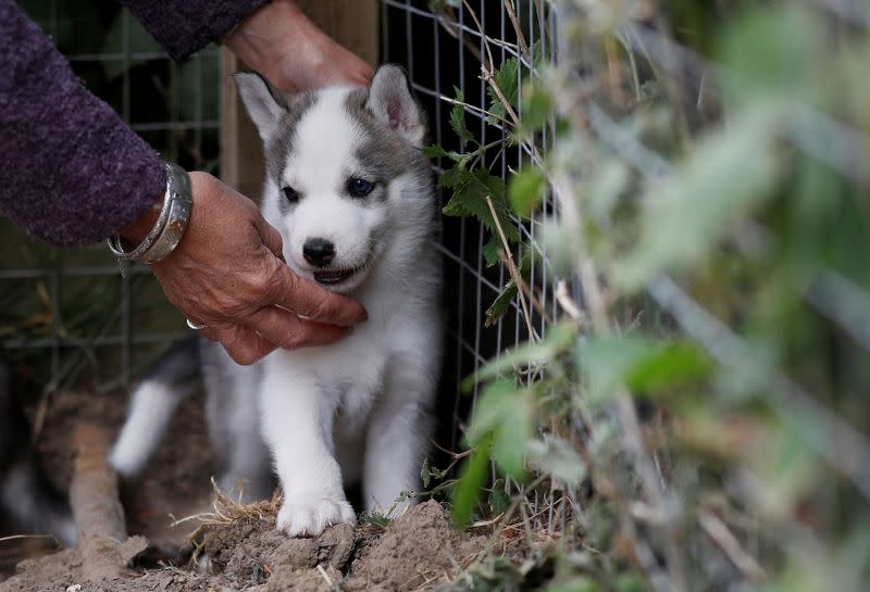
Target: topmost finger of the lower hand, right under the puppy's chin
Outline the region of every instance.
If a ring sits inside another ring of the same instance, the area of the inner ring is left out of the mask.
[[[369,318],[359,302],[300,278],[285,265],[276,269],[273,279],[272,303],[297,315],[339,327],[350,327]]]

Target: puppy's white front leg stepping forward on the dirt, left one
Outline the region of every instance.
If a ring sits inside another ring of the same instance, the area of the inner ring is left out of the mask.
[[[330,525],[355,524],[333,456],[335,396],[320,392],[313,377],[299,371],[298,365],[293,373],[279,365],[268,367],[262,387],[263,432],[284,490],[277,528],[296,537],[320,534]]]

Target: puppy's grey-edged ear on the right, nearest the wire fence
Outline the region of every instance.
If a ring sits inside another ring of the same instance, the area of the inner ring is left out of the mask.
[[[377,68],[365,106],[413,146],[423,146],[426,126],[401,67],[386,64]]]

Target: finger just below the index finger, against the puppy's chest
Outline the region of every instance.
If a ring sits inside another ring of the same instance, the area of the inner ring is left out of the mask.
[[[253,329],[264,339],[286,350],[328,345],[350,332],[348,327],[336,327],[299,318],[289,311],[274,306],[260,308],[250,315],[247,322],[249,329]]]

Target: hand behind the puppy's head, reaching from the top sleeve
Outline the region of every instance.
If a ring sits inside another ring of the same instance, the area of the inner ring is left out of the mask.
[[[323,33],[293,0],[265,4],[224,45],[285,92],[369,86],[372,80],[369,64]]]

